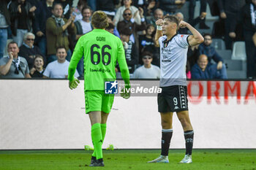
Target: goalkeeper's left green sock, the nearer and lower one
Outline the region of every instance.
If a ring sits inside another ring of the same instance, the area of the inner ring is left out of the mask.
[[[100,123],[95,123],[91,126],[91,140],[94,144],[95,157],[97,159],[103,158],[102,155],[102,130]]]

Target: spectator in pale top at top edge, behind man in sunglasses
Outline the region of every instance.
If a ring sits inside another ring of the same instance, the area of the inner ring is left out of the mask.
[[[119,21],[124,20],[123,14],[124,14],[124,10],[127,8],[131,10],[135,23],[138,23],[138,25],[140,25],[141,22],[140,22],[140,15],[138,15],[138,8],[135,6],[132,6],[132,0],[123,0],[121,1],[121,5],[122,6],[117,9],[116,16],[113,20],[115,23],[115,26],[117,26],[117,23]]]

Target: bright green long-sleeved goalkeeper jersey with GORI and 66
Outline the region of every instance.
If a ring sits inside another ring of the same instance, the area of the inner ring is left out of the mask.
[[[105,90],[105,81],[116,80],[116,62],[124,82],[129,84],[124,47],[118,36],[104,29],[94,29],[81,36],[69,63],[68,80],[74,79],[75,69],[83,56],[85,90]]]

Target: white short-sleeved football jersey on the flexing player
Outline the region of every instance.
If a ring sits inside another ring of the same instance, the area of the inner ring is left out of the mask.
[[[167,41],[167,36],[161,36],[160,46],[160,87],[170,85],[187,85],[186,63],[189,47],[189,35],[176,34]]]

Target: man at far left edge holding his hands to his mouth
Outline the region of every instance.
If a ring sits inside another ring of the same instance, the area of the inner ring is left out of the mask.
[[[26,59],[20,57],[17,42],[7,45],[8,56],[0,59],[1,78],[31,78]]]

